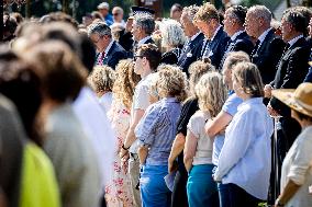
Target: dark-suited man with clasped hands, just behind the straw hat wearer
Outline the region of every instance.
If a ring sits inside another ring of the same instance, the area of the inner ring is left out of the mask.
[[[292,10],[283,14],[281,32],[282,39],[288,45],[277,66],[275,80],[265,88],[266,96],[270,96],[271,89],[296,89],[303,81],[309,69],[310,55],[310,47],[303,37],[304,30],[304,16],[300,12]],[[291,118],[290,108],[279,100],[271,97],[267,107],[271,116],[281,116],[279,118],[281,130],[278,131],[276,143],[278,169],[280,169],[301,127],[296,119]]]

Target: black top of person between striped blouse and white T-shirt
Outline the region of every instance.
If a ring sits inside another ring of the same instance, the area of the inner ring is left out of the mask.
[[[199,110],[198,107],[198,99],[188,100],[182,108],[181,114],[177,124],[177,134],[181,133],[183,136],[187,136],[188,124],[191,116]],[[178,156],[178,171],[181,174],[187,174],[187,170],[183,163],[183,151]]]

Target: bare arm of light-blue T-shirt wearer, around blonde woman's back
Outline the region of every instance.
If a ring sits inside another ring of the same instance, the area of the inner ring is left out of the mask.
[[[209,119],[204,126],[205,133],[209,137],[214,137],[222,131],[232,120],[233,116],[221,111],[214,119]]]

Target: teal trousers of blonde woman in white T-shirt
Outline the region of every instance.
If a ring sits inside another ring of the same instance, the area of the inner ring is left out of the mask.
[[[193,165],[188,179],[189,207],[219,207],[216,183],[212,179],[213,164]]]

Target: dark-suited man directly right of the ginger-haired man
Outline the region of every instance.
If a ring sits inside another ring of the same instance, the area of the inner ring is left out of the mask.
[[[222,58],[221,68],[230,51],[245,51],[250,55],[254,44],[250,37],[245,32],[244,23],[247,13],[247,8],[242,5],[233,5],[225,11],[224,14],[224,31],[231,37],[227,43],[224,56]]]

